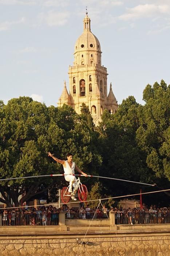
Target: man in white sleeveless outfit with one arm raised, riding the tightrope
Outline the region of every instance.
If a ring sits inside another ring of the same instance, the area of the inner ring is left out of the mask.
[[[52,157],[56,162],[61,163],[63,165],[63,169],[64,169],[64,174],[66,174],[64,176],[66,181],[70,182],[69,185],[69,189],[68,189],[68,195],[71,195],[72,193],[72,186],[75,188],[77,185],[77,181],[76,181],[76,177],[74,176],[74,170],[78,171],[79,173],[83,174],[85,177],[88,177],[88,175],[84,172],[82,172],[82,170],[80,170],[75,162],[72,161],[72,154],[68,153],[67,154],[67,160],[60,160],[56,157],[54,157],[53,154],[51,154],[50,152],[48,152],[48,157]],[[71,195],[71,199],[76,201],[76,197],[75,197],[75,193],[76,191],[73,191],[74,193]]]

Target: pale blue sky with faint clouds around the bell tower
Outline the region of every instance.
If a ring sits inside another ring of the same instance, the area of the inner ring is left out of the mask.
[[[86,5],[118,103],[143,103],[146,84],[170,84],[170,0],[0,0],[0,99],[56,106]]]

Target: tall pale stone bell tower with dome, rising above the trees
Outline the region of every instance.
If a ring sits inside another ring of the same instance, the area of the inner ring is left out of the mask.
[[[112,91],[107,96],[107,68],[102,66],[102,51],[98,38],[91,33],[91,20],[86,16],[83,20],[83,33],[77,39],[74,49],[74,64],[69,67],[70,94],[64,83],[64,90],[58,105],[64,103],[72,106],[80,114],[84,102],[97,125],[104,109],[115,113],[118,103]]]

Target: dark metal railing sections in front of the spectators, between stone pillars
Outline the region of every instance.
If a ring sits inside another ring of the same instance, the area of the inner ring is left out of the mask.
[[[66,211],[66,219],[107,219],[109,212],[82,212]],[[129,216],[126,212],[115,213],[115,224],[161,224],[170,223],[170,213],[158,212],[157,214],[150,214],[143,212],[142,214],[132,214]],[[29,225],[59,225],[59,213],[30,213],[30,212],[12,212],[3,213],[0,215],[0,225],[3,226],[29,226]]]

